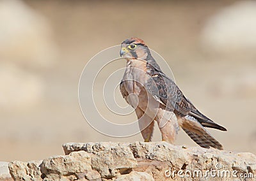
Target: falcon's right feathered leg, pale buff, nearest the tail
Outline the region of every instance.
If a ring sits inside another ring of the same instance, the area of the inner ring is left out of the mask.
[[[162,141],[173,144],[177,131],[179,131],[179,125],[175,114],[159,108],[156,115],[156,121],[162,134]]]

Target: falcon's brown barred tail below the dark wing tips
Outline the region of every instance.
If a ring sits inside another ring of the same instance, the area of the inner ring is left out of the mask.
[[[219,141],[217,141],[194,117],[187,115],[179,122],[182,129],[188,136],[203,148],[217,148],[223,150]]]

